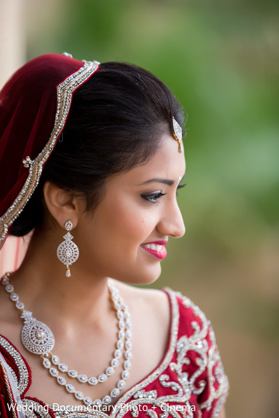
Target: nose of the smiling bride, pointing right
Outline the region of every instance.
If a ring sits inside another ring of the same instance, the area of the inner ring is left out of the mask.
[[[163,209],[163,215],[158,222],[157,231],[162,235],[169,235],[173,238],[181,238],[186,229],[177,202],[169,203]]]

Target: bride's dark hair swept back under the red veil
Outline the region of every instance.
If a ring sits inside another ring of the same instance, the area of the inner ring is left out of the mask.
[[[126,63],[101,64],[75,91],[63,134],[11,233],[25,235],[42,222],[47,180],[83,194],[87,210],[96,208],[105,179],[148,161],[161,134],[172,134],[172,116],[183,124],[179,102],[150,72]]]

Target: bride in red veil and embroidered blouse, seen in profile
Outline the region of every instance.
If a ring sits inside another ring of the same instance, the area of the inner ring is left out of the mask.
[[[227,377],[187,297],[147,290],[176,202],[183,114],[134,65],[48,54],[0,93],[0,233],[33,231],[0,286],[2,417],[225,417]]]

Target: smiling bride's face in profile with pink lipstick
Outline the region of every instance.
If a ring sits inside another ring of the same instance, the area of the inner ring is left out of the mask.
[[[176,189],[186,163],[178,143],[163,134],[156,154],[144,165],[110,178],[97,208],[80,215],[73,235],[82,266],[98,277],[130,284],[158,279],[170,237],[185,227]]]

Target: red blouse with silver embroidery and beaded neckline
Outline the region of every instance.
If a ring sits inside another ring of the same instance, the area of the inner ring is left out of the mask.
[[[170,290],[166,292],[172,319],[165,356],[146,378],[123,393],[110,407],[110,413],[92,405],[73,405],[73,410],[65,410],[63,405],[45,405],[43,401],[25,396],[31,384],[31,370],[17,348],[0,336],[0,352],[21,398],[20,404],[10,393],[0,357],[1,418],[24,415],[28,418],[218,417],[229,385],[214,332],[209,320],[188,297]]]

